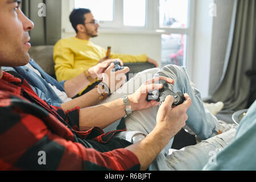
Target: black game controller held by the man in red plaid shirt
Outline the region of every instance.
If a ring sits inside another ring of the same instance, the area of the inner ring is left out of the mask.
[[[163,88],[160,90],[152,90],[148,92],[147,98],[146,98],[148,102],[150,102],[151,100],[155,100],[157,102],[160,102],[160,104],[162,104],[167,96],[173,96],[174,103],[172,104],[172,107],[175,107],[177,105],[182,104],[185,101],[185,97],[183,93],[172,92],[172,90],[169,89],[168,84],[165,80],[159,80],[159,84],[162,84]]]

